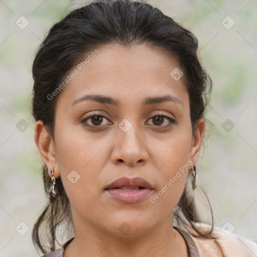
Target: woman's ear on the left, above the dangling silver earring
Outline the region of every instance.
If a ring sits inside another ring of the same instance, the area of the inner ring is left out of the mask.
[[[43,162],[47,166],[49,176],[53,176],[51,170],[54,169],[54,177],[59,177],[54,140],[42,120],[38,120],[35,124],[35,143]]]

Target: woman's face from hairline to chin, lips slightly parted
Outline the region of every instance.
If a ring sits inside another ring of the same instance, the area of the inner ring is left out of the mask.
[[[71,70],[78,74],[59,93],[54,157],[44,161],[49,176],[52,168],[61,176],[75,231],[144,234],[172,222],[188,172],[182,167],[196,162],[189,161],[200,151],[204,119],[192,135],[189,96],[171,58],[146,46],[98,51]],[[123,177],[143,178],[151,189],[136,179],[110,190]]]

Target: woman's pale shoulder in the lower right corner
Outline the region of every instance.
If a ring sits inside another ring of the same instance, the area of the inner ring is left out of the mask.
[[[196,226],[201,231],[208,231],[211,228],[210,224],[197,222]],[[214,226],[213,235],[217,237],[214,239],[203,239],[194,237],[195,231],[188,231],[195,242],[199,255],[202,257],[226,256],[226,257],[256,257],[257,256],[257,242],[248,238],[243,238],[235,233],[227,235],[219,227]],[[222,254],[222,255],[221,255]]]

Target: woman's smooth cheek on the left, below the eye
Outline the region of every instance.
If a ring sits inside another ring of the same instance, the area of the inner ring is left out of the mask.
[[[106,156],[104,148],[109,140],[95,139],[60,129],[56,134],[56,155],[62,182],[71,200],[88,199],[99,185],[99,173]],[[88,191],[87,191],[88,190]]]

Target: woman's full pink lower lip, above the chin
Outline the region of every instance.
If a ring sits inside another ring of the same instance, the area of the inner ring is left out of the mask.
[[[123,203],[138,203],[146,199],[152,189],[144,188],[141,190],[124,191],[122,189],[108,189],[108,194],[115,200]]]

